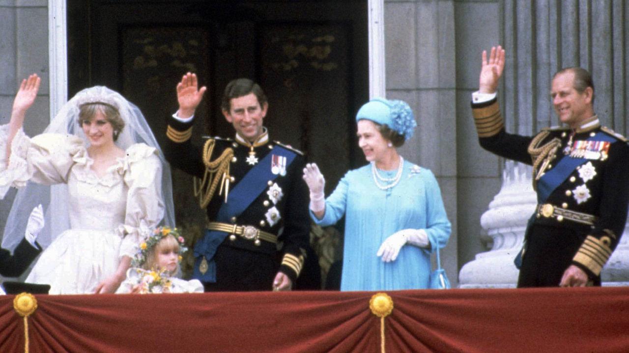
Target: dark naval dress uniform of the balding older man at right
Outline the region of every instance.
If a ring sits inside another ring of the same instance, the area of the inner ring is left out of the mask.
[[[504,130],[497,99],[472,102],[482,148],[533,165],[537,208],[526,228],[518,287],[558,286],[571,264],[601,285],[601,269],[625,229],[629,146],[594,116],[577,129],[533,137]],[[517,263],[516,263],[517,264]]]

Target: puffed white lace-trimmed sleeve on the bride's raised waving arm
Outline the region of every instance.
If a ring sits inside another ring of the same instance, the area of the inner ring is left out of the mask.
[[[40,134],[30,139],[19,129],[7,165],[8,132],[8,125],[0,126],[0,189],[5,192],[8,187],[23,187],[29,180],[45,185],[65,183],[72,165],[86,156],[83,140],[77,136]]]

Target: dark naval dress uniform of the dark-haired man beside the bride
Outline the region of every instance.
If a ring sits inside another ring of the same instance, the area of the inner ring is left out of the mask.
[[[199,148],[190,141],[192,121],[170,117],[166,134],[166,159],[195,177],[208,214],[192,277],[206,291],[265,291],[281,271],[294,285],[310,230],[302,153],[270,141],[266,129],[253,144],[237,135]]]

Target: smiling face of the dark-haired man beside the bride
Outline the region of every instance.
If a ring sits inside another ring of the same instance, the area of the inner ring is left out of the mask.
[[[236,133],[253,143],[263,132],[262,121],[267,116],[267,107],[266,103],[260,106],[255,94],[250,93],[232,98],[230,109],[223,110],[223,116],[233,125]]]

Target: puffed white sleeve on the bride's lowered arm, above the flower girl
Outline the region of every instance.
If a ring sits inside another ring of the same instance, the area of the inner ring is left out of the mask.
[[[126,154],[123,168],[129,191],[120,256],[132,258],[140,242],[164,218],[162,162],[157,150],[143,143],[133,144]]]

